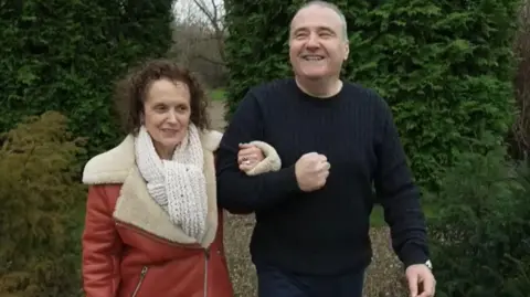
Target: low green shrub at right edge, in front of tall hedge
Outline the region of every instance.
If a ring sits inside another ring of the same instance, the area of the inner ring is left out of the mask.
[[[528,296],[530,172],[507,156],[500,148],[462,155],[432,198],[436,296]]]

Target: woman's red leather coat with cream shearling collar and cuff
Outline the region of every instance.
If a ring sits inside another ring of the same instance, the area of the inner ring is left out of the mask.
[[[201,134],[206,180],[206,234],[198,243],[174,225],[155,202],[135,160],[134,138],[91,159],[83,233],[86,297],[232,297],[223,248],[223,212],[218,210],[213,152],[222,135]],[[252,172],[278,170],[274,148]]]

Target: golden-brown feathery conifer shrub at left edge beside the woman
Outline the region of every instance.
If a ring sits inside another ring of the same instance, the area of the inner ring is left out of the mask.
[[[0,138],[0,296],[75,296],[81,288],[80,225],[84,204],[74,166],[82,139],[63,115],[30,117]]]

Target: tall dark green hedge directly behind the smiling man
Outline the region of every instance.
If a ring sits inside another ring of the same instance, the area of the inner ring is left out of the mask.
[[[305,1],[229,0],[230,120],[248,87],[290,75],[288,26]],[[350,56],[343,77],[391,105],[418,184],[491,131],[488,151],[512,121],[512,38],[519,0],[332,1],[344,12]]]

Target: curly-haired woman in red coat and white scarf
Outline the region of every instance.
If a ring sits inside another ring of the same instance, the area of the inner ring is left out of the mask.
[[[83,173],[86,296],[231,297],[215,197],[222,135],[208,130],[203,89],[162,60],[134,71],[116,94],[128,136]],[[258,153],[245,149],[242,170],[278,170],[276,151],[254,144]]]

